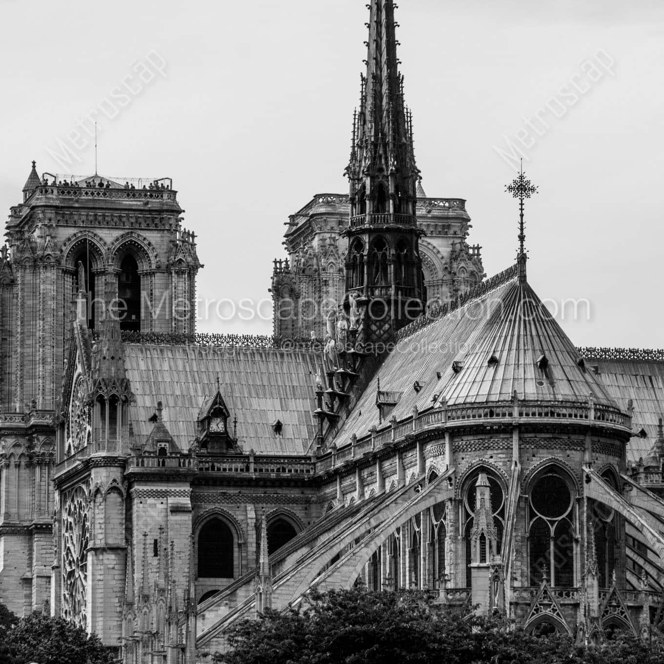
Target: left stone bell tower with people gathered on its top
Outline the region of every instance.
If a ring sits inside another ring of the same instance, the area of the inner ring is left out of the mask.
[[[193,334],[201,264],[183,212],[169,178],[40,175],[34,161],[9,210],[0,250],[0,602],[19,616],[53,608],[56,464],[88,444],[70,426],[85,395],[60,399],[63,374],[74,370],[76,309],[93,338],[116,297],[122,335]]]

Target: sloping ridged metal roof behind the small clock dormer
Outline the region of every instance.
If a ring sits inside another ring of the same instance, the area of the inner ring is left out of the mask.
[[[237,417],[244,452],[305,454],[315,436],[312,412],[320,354],[303,350],[125,344],[125,366],[136,403],[131,424],[138,442],[153,428],[149,418],[163,402],[163,424],[186,451],[197,436],[201,405],[220,392]],[[280,420],[277,435],[272,423]]]

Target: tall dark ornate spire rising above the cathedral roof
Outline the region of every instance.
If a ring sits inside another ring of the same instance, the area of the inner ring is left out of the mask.
[[[394,3],[372,0],[367,74],[353,118],[346,289],[363,311],[358,340],[389,341],[422,312],[416,221],[420,171],[396,57]],[[351,304],[351,307],[353,305]]]

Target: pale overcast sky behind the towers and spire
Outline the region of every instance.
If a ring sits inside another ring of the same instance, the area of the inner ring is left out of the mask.
[[[529,281],[542,298],[590,302],[590,321],[561,321],[572,341],[664,347],[664,3],[399,5],[424,189],[467,199],[487,274],[515,258],[517,205],[503,191],[515,170],[496,149],[509,152],[508,137],[540,187]],[[68,135],[96,112],[102,175],[173,178],[206,264],[199,295],[269,297],[288,214],[347,191],[367,16],[365,0],[0,0],[1,206],[21,200],[31,159],[65,170],[58,139],[83,146],[67,171],[94,172],[90,121]]]

